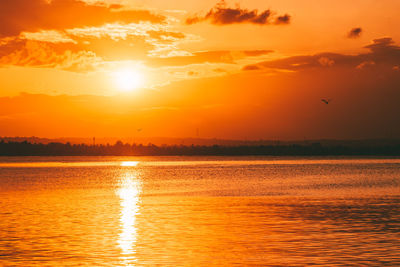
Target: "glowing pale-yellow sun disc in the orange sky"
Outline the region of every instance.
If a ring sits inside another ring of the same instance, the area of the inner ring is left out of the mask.
[[[143,75],[135,69],[121,69],[113,76],[115,85],[123,92],[131,92],[143,85]]]

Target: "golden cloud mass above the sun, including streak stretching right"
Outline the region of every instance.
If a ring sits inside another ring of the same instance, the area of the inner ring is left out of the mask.
[[[188,44],[203,39],[183,32],[185,26],[182,28],[176,18],[104,2],[15,0],[0,2],[0,10],[3,66],[89,72],[112,71],[124,61],[134,61],[151,68],[147,72],[169,68],[162,72],[172,75],[159,74],[163,78],[152,79],[154,86],[176,79],[223,75],[226,73],[212,69],[226,69],[223,64],[234,65],[271,52],[193,51]]]

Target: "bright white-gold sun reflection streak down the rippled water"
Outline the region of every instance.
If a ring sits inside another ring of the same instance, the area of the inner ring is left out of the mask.
[[[136,167],[139,162],[122,162],[122,167]],[[125,176],[121,177],[120,188],[117,193],[120,197],[121,214],[118,244],[122,250],[122,264],[124,266],[134,266],[137,259],[135,257],[135,245],[137,240],[136,216],[139,214],[141,182],[137,172],[128,170]]]

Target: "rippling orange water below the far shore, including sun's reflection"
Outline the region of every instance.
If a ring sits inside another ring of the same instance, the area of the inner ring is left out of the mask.
[[[0,158],[0,266],[400,265],[400,159]]]

